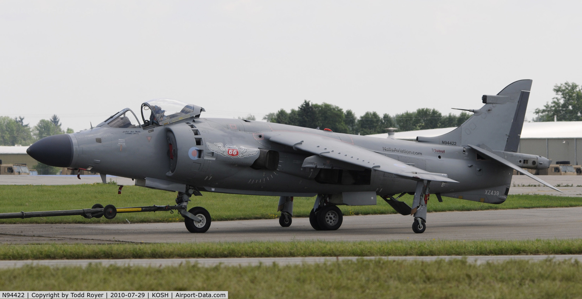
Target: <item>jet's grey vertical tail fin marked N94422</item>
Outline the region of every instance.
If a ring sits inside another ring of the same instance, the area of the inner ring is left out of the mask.
[[[519,80],[496,95],[483,95],[485,105],[460,127],[437,137],[417,137],[418,142],[467,146],[484,145],[497,151],[517,151],[532,80]]]

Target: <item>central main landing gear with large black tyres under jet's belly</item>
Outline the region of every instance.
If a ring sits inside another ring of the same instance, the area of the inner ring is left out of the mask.
[[[317,195],[313,209],[309,213],[309,223],[315,230],[336,230],[342,226],[343,213],[328,202],[326,195]]]

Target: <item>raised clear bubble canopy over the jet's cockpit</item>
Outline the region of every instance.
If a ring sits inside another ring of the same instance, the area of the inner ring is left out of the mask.
[[[141,118],[144,127],[153,124],[164,125],[186,118],[197,118],[204,108],[175,99],[152,99],[141,104]]]

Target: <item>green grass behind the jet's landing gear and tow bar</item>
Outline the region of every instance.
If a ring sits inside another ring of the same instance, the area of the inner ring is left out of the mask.
[[[94,204],[113,204],[115,207],[139,207],[147,205],[174,204],[175,193],[149,188],[126,186],[117,194],[118,187],[112,184],[81,184],[68,186],[0,186],[2,205],[0,213],[54,211],[60,209],[91,208]],[[274,219],[279,198],[272,196],[203,193],[202,197],[192,197],[190,207],[201,206],[210,212],[212,220]],[[485,209],[556,208],[580,207],[580,197],[560,197],[551,195],[509,195],[503,204],[492,205],[482,202],[436,198],[428,204],[428,212],[477,211]],[[293,202],[293,216],[307,217],[313,208],[315,198],[296,197]],[[411,205],[412,196],[404,195],[403,201]],[[378,198],[377,205],[348,207],[340,206],[344,215],[371,215],[396,213],[386,202]],[[0,219],[0,223],[132,223],[179,222],[182,216],[169,212],[123,213],[114,219],[82,216],[42,217],[28,219]]]

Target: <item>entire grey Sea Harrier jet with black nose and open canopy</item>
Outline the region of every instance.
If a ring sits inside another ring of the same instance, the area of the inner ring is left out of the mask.
[[[187,210],[201,191],[279,196],[279,223],[289,226],[293,197],[314,197],[315,230],[342,225],[338,205],[375,205],[377,195],[423,233],[429,194],[501,204],[513,170],[554,189],[526,169],[551,161],[517,152],[531,80],[483,95],[460,127],[416,141],[335,133],[255,120],[203,118],[204,108],[172,99],[129,108],[90,130],[42,138],[30,156],[47,165],[129,177],[137,186],[177,192],[186,229],[203,233],[204,208]],[[558,190],[559,191],[559,190]],[[398,198],[414,194],[412,207]],[[395,196],[398,195],[398,196]],[[156,206],[158,207],[158,206]],[[106,211],[107,212],[107,211]],[[112,211],[109,211],[112,212]]]

